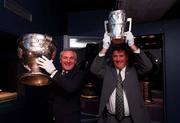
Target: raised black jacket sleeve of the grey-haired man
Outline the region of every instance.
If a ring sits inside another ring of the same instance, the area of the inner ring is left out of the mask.
[[[61,75],[60,72],[57,72],[53,77],[53,81],[67,93],[73,93],[81,89],[84,76],[85,73],[80,70],[75,70],[65,75]]]

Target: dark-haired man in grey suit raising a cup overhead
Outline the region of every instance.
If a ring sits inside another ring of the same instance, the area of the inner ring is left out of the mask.
[[[147,74],[152,64],[144,52],[134,44],[131,32],[125,32],[125,43],[114,45],[112,64],[108,64],[105,56],[110,49],[110,43],[111,39],[105,33],[103,48],[91,66],[91,72],[103,79],[99,123],[147,123],[149,116],[144,107],[138,74]],[[127,46],[133,52],[136,64],[129,64]],[[119,85],[121,89],[118,88]],[[121,99],[118,96],[119,90]],[[120,105],[122,107],[118,109]]]

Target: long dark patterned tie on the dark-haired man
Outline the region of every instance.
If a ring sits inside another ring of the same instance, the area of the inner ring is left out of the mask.
[[[116,87],[116,117],[118,120],[122,120],[124,117],[124,98],[121,70],[119,70],[117,87]]]

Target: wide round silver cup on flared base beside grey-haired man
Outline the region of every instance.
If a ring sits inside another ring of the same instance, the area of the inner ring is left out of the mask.
[[[26,73],[19,76],[21,83],[31,86],[43,86],[50,83],[49,76],[36,63],[36,59],[42,55],[49,59],[55,58],[56,45],[52,37],[30,33],[19,38],[18,57],[27,69]]]

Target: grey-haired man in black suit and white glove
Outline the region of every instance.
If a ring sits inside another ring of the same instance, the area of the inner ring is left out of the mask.
[[[77,54],[73,50],[60,53],[61,70],[57,70],[52,60],[38,58],[39,67],[45,69],[54,86],[53,113],[55,123],[80,123],[80,90],[84,72],[77,68]]]

